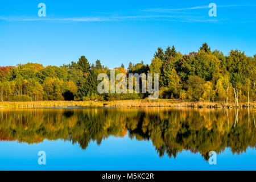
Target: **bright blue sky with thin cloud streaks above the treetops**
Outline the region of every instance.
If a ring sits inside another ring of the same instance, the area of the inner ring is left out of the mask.
[[[38,4],[46,4],[46,17]],[[217,17],[208,15],[216,3]],[[207,42],[227,55],[256,53],[256,2],[243,1],[1,1],[0,66],[62,65],[85,55],[114,68],[149,64],[158,47],[197,51]]]

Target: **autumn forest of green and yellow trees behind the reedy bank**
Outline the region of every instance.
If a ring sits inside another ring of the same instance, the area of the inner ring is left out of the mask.
[[[159,98],[180,101],[246,102],[255,101],[256,54],[232,50],[228,55],[212,51],[204,43],[197,52],[182,54],[175,47],[158,48],[151,64],[129,63],[116,67],[115,74],[159,73]],[[3,62],[2,62],[3,63]],[[144,99],[148,94],[99,94],[100,73],[110,69],[89,63],[85,56],[60,67],[38,63],[0,67],[0,101],[90,101]]]

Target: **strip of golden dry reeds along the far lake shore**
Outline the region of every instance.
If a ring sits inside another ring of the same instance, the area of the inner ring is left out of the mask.
[[[33,108],[33,107],[236,107],[234,103],[220,102],[181,102],[180,100],[122,100],[122,101],[32,101],[32,102],[0,102],[0,109]],[[250,107],[255,107],[251,102]],[[241,103],[238,107],[247,107]]]

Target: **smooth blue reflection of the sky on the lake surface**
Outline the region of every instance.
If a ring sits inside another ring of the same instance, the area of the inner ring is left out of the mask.
[[[38,144],[0,142],[1,170],[255,170],[256,150],[247,148],[241,155],[229,148],[210,165],[199,154],[183,151],[176,159],[159,158],[150,141],[109,137],[98,146],[90,142],[86,150],[63,140],[44,140]],[[46,151],[46,165],[39,165],[38,151]]]

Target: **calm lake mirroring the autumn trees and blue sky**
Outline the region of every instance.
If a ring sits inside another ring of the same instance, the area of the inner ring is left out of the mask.
[[[0,170],[255,170],[255,115],[164,107],[0,110]],[[217,164],[209,164],[210,151]]]

